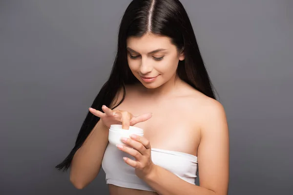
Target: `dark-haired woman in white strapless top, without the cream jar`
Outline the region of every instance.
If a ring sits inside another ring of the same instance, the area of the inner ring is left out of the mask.
[[[225,111],[178,0],[129,4],[112,72],[89,111],[75,147],[57,166],[71,166],[76,188],[87,186],[102,165],[111,195],[228,194]],[[135,125],[144,137],[113,146],[111,124]]]

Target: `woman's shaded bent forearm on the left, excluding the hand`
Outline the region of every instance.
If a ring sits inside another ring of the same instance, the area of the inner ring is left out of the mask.
[[[102,120],[96,124],[83,146],[73,156],[70,181],[77,189],[83,189],[99,174],[109,131]]]

